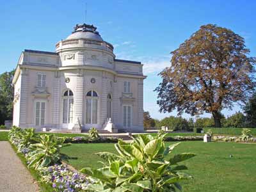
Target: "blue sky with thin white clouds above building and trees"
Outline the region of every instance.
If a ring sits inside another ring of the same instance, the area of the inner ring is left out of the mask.
[[[85,22],[86,2],[86,22],[114,45],[116,58],[144,63],[144,109],[154,118],[177,114],[159,113],[153,92],[161,81],[157,74],[170,66],[170,52],[200,26],[211,23],[232,29],[256,56],[256,1],[1,0],[0,73],[15,68],[24,49],[54,51],[56,42]],[[238,106],[223,113],[236,111]]]

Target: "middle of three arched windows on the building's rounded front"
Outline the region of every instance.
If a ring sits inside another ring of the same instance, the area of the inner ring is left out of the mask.
[[[98,94],[90,91],[86,94],[86,124],[97,124]]]

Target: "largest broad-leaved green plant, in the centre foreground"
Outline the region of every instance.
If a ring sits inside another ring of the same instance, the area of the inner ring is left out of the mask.
[[[96,180],[88,186],[88,190],[167,192],[182,189],[179,182],[191,179],[191,176],[182,173],[182,170],[188,168],[178,163],[195,154],[177,154],[168,158],[179,143],[166,147],[164,136],[139,135],[133,138],[132,143],[118,141],[115,144],[117,155],[109,152],[97,153],[105,160],[102,162],[103,167],[81,170]]]

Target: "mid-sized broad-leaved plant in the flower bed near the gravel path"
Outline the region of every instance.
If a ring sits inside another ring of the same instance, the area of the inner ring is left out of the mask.
[[[70,145],[70,143],[63,144],[65,138],[58,138],[51,135],[41,135],[40,143],[30,145],[31,152],[29,152],[29,167],[34,167],[36,170],[45,166],[60,164],[61,160],[67,159],[65,154],[60,153],[60,148]]]

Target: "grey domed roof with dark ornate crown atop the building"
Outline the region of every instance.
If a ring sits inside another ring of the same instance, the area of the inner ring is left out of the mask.
[[[71,35],[67,37],[67,40],[73,39],[73,38],[90,38],[92,40],[98,40],[103,41],[103,39],[100,37],[99,32],[96,31],[97,28],[93,25],[88,24],[77,24],[74,27],[74,31]]]

